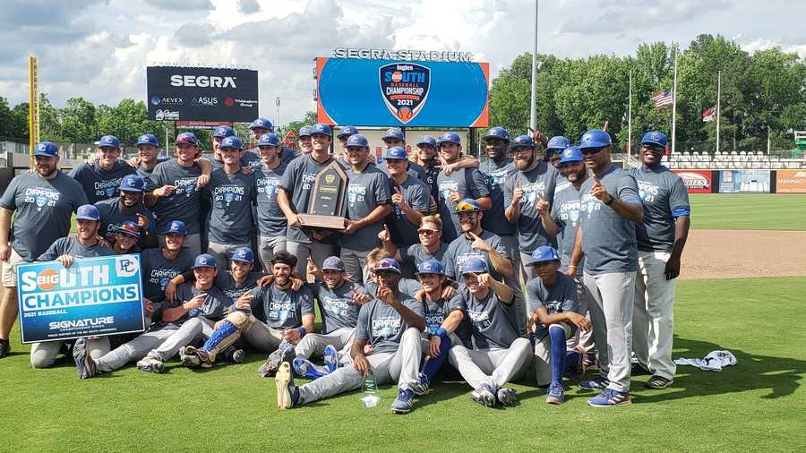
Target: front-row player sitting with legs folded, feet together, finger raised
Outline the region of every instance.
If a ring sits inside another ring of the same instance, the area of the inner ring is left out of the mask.
[[[473,388],[474,401],[487,407],[513,406],[518,402],[515,389],[504,385],[525,371],[531,355],[529,340],[519,336],[513,322],[514,292],[476,257],[462,263],[461,275],[465,286],[457,297],[467,306],[471,338],[452,346],[448,360]]]

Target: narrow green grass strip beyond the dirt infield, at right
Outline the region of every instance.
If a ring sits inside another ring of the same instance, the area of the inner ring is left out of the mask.
[[[806,230],[806,195],[692,193],[691,227]]]

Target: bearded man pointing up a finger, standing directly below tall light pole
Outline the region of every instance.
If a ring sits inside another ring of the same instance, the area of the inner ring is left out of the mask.
[[[553,242],[541,224],[540,214],[551,207],[558,172],[537,158],[535,142],[528,135],[512,141],[512,152],[519,171],[504,186],[504,213],[517,226],[520,260],[526,262],[537,247]],[[526,275],[524,281],[535,278],[530,268],[521,269]]]

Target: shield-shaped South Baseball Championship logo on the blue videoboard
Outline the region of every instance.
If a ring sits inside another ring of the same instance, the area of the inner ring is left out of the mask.
[[[431,87],[431,70],[420,64],[387,64],[381,67],[381,94],[386,107],[401,123],[420,113]]]

